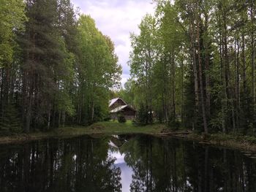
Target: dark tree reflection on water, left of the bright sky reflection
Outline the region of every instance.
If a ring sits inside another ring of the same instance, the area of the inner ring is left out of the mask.
[[[0,191],[121,191],[107,139],[1,146]]]

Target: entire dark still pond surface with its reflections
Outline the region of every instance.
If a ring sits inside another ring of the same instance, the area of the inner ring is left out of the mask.
[[[256,155],[145,135],[0,145],[0,191],[256,191]]]

